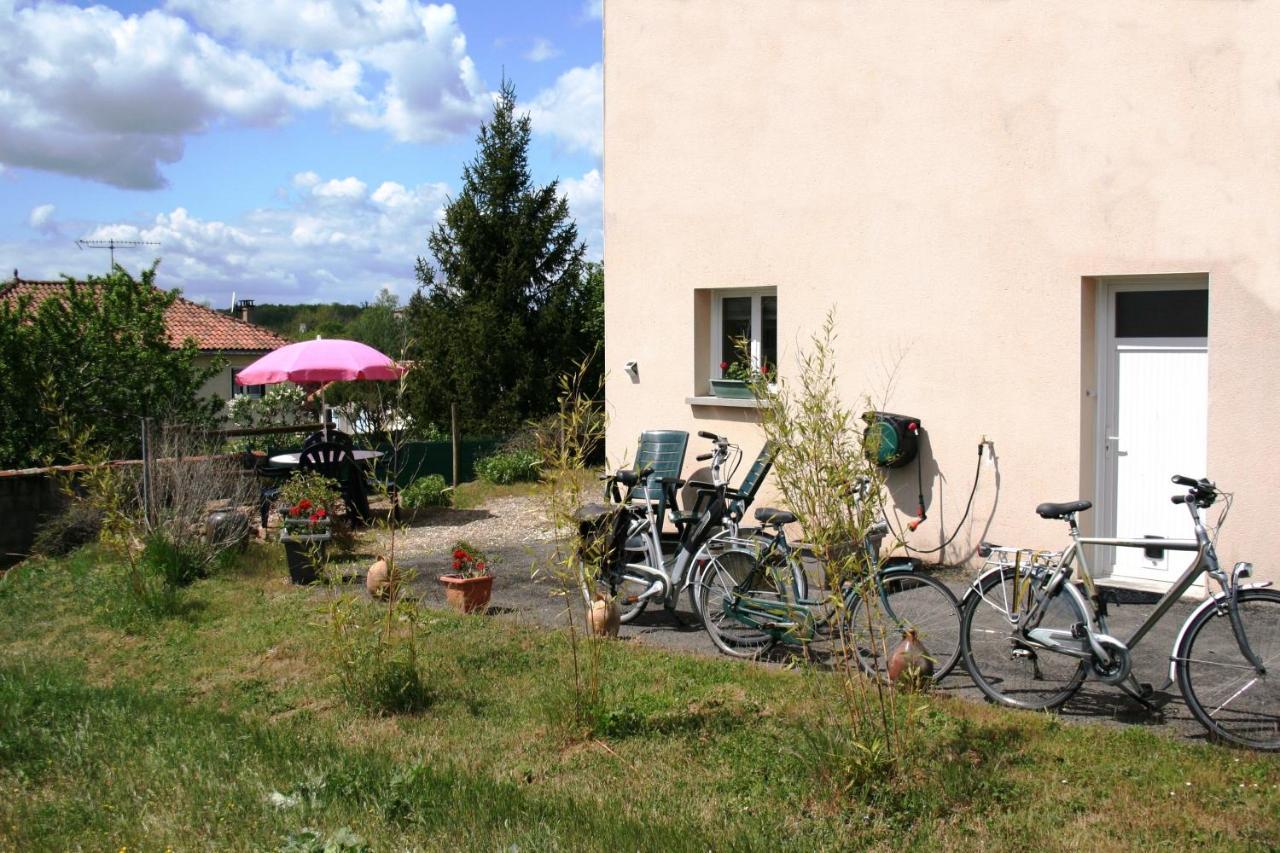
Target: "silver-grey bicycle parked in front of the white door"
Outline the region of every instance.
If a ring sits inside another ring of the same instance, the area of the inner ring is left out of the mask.
[[[1167,688],[1178,683],[1187,707],[1212,736],[1256,749],[1280,749],[1280,592],[1267,583],[1242,583],[1253,574],[1238,562],[1230,576],[1219,566],[1215,543],[1231,506],[1231,496],[1207,479],[1174,476],[1185,487],[1174,503],[1185,505],[1194,539],[1119,539],[1082,537],[1076,515],[1088,501],[1042,503],[1043,519],[1062,520],[1071,544],[1061,552],[1033,552],[983,546],[991,560],[965,593],[961,652],[978,688],[993,702],[1018,708],[1060,707],[1088,675],[1119,688],[1146,707],[1153,693],[1132,671],[1132,651],[1201,575],[1220,592],[1201,603],[1183,622],[1169,660]],[[1225,506],[1213,533],[1201,510]],[[1196,552],[1192,565],[1160,598],[1128,639],[1107,630],[1106,602],[1100,596],[1083,546],[1164,548]],[[1073,581],[1079,562],[1080,585]],[[1083,592],[1080,589],[1083,587]],[[1268,678],[1270,676],[1270,678]]]

